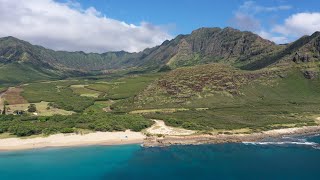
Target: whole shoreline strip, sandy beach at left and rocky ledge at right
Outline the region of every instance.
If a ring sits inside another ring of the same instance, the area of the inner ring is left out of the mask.
[[[81,147],[93,145],[141,144],[143,147],[165,147],[170,145],[200,145],[221,143],[258,142],[267,138],[283,136],[314,135],[320,133],[320,126],[304,126],[263,131],[251,134],[192,134],[192,135],[153,135],[147,137],[141,132],[93,132],[80,134],[55,134],[36,138],[0,139],[0,152],[56,147]]]

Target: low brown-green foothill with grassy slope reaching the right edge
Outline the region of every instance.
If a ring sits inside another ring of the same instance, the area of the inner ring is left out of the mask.
[[[316,103],[320,100],[319,65],[292,63],[256,71],[221,63],[178,68],[150,84],[129,106],[153,109],[223,107],[251,102]],[[304,74],[308,69],[315,73],[312,79]]]

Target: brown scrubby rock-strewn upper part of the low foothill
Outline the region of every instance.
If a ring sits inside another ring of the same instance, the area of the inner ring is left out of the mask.
[[[181,93],[191,95],[202,92],[205,87],[211,91],[226,91],[238,95],[240,86],[273,74],[275,74],[273,71],[245,72],[225,65],[205,65],[177,69],[160,79],[157,85],[170,95]]]

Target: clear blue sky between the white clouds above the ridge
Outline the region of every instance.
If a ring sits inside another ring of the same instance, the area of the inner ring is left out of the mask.
[[[146,21],[167,27],[172,35],[190,33],[199,27],[236,27],[235,14],[241,6],[251,3],[245,13],[260,21],[261,28],[270,31],[274,24],[283,24],[293,14],[320,12],[319,0],[79,0],[82,6],[95,7],[110,18],[139,24]],[[255,7],[279,10],[252,12]],[[320,19],[319,19],[320,21]],[[253,30],[254,29],[245,29]],[[294,37],[289,37],[293,40]],[[290,41],[289,40],[289,41]]]

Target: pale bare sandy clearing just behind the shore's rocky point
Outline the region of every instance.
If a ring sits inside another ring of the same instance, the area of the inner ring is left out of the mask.
[[[155,124],[146,130],[150,134],[179,136],[179,135],[191,135],[196,133],[196,131],[192,131],[192,130],[167,126],[161,120],[154,120],[154,122]]]

